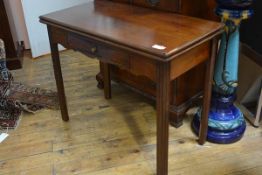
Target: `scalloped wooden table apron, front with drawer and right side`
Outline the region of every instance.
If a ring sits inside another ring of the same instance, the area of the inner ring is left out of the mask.
[[[161,61],[107,45],[101,41],[58,27],[52,26],[51,32],[53,33],[52,40],[55,43],[59,43],[68,49],[77,50],[90,58],[116,65],[134,75],[145,76],[153,82],[157,81],[157,66],[163,63]],[[170,81],[208,60],[209,51],[210,41],[206,41],[167,62],[166,64],[170,64]]]

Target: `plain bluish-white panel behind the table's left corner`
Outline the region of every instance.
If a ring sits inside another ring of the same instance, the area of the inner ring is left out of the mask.
[[[32,56],[50,53],[47,28],[39,22],[39,16],[88,1],[90,0],[22,0]]]

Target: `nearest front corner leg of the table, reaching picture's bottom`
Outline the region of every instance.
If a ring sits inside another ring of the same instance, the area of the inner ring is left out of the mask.
[[[170,64],[157,68],[157,175],[168,174]]]

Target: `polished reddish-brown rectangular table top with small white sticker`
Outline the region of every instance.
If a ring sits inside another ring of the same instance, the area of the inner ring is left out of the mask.
[[[40,20],[162,59],[223,29],[217,22],[105,0],[50,13]]]

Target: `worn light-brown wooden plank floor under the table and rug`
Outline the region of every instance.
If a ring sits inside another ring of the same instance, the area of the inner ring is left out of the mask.
[[[0,174],[155,174],[154,103],[118,84],[113,99],[105,100],[96,87],[98,62],[77,52],[63,52],[62,67],[70,122],[62,122],[60,111],[23,114],[0,144]],[[25,58],[13,74],[16,81],[56,89],[49,55]],[[170,175],[262,174],[261,128],[248,124],[235,144],[199,146],[190,128],[194,112],[181,128],[170,127]]]

